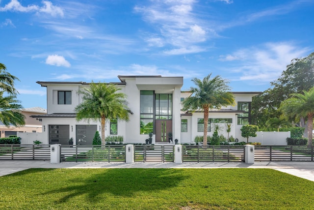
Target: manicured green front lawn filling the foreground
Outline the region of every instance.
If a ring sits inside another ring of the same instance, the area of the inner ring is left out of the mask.
[[[271,169],[29,169],[0,177],[0,209],[310,210],[314,182]]]

